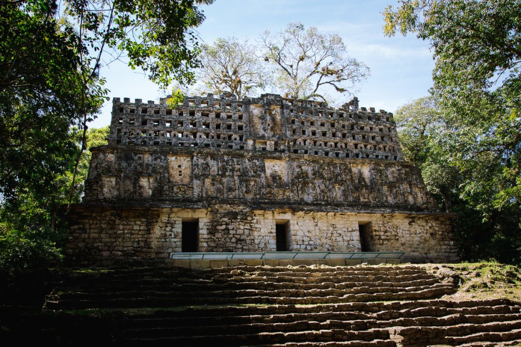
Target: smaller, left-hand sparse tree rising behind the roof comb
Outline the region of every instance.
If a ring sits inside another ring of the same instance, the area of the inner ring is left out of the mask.
[[[256,55],[256,47],[248,40],[217,38],[212,45],[201,46],[202,68],[196,77],[208,92],[229,91],[240,100],[267,85],[267,74]]]

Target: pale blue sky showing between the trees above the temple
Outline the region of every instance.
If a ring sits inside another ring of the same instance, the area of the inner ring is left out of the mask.
[[[258,40],[265,30],[283,30],[297,21],[305,28],[339,34],[348,54],[365,62],[371,75],[359,85],[356,96],[362,107],[375,107],[394,112],[405,102],[428,94],[432,86],[434,61],[429,43],[415,35],[385,37],[382,13],[387,4],[382,0],[216,0],[203,6],[206,20],[197,28],[201,40],[211,44],[217,37],[235,36]],[[124,63],[114,62],[101,70],[110,98],[129,97],[159,100],[164,93],[137,71]],[[345,95],[345,101],[351,97]],[[98,119],[90,127],[110,123],[111,101],[106,102]]]

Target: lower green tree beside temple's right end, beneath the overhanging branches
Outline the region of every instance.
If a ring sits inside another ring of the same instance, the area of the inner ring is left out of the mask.
[[[433,97],[404,105],[395,121],[406,159],[420,168],[445,210],[458,214],[462,258],[519,264],[521,209],[517,201],[501,199],[512,182],[479,125],[458,121]]]

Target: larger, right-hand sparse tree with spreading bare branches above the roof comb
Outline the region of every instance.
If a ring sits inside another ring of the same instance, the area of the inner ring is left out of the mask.
[[[275,85],[284,96],[326,100],[325,87],[339,93],[367,78],[369,69],[363,62],[349,57],[342,38],[320,33],[317,28],[304,29],[290,23],[284,31],[261,36],[265,60],[274,67]]]

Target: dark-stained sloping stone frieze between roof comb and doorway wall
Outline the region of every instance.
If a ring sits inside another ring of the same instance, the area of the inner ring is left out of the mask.
[[[85,201],[242,200],[437,211],[404,161],[109,146],[93,150]]]

